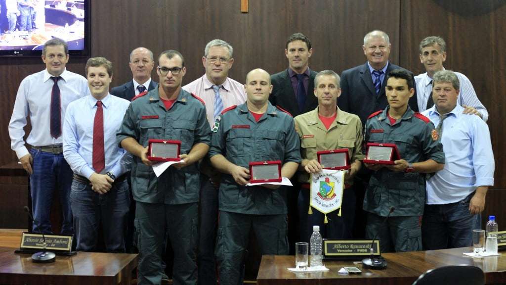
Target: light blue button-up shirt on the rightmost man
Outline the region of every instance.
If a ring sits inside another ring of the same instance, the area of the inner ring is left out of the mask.
[[[494,154],[488,126],[476,115],[462,114],[463,110],[457,104],[443,121],[441,143],[446,163],[427,181],[427,204],[458,202],[478,186],[494,185]],[[439,125],[436,106],[423,114]]]

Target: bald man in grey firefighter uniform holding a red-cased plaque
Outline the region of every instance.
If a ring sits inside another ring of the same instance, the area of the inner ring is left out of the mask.
[[[262,255],[287,255],[287,187],[245,186],[249,162],[280,160],[290,178],[301,162],[299,136],[291,115],[269,103],[270,76],[254,69],[246,76],[247,101],[225,109],[215,122],[211,163],[224,175],[219,192],[217,262],[221,285],[241,283],[250,230]]]

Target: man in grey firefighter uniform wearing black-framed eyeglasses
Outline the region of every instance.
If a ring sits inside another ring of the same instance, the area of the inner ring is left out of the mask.
[[[160,284],[165,233],[174,249],[173,280],[197,283],[197,203],[200,178],[197,163],[209,149],[210,129],[200,98],[181,88],[186,73],[178,51],[158,57],[160,84],[132,99],[117,141],[134,155],[132,192],[139,232],[139,284]],[[182,162],[156,177],[147,159],[149,139],[181,141]]]

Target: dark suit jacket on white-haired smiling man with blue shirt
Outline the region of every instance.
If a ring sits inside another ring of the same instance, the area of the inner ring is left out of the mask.
[[[382,82],[381,92],[376,94],[372,83],[371,73],[367,62],[365,64],[347,69],[341,75],[341,96],[338,98],[338,106],[341,110],[357,115],[365,125],[370,114],[384,110],[388,106],[385,86],[388,74],[397,68],[405,69],[389,62],[385,79]],[[413,76],[413,74],[408,70]],[[414,112],[418,112],[416,101],[416,86],[413,79],[414,95],[409,99],[409,106]]]

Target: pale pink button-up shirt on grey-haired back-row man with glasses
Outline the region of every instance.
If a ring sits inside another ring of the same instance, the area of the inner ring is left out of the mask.
[[[211,128],[215,125],[215,91],[213,90],[213,84],[204,74],[202,77],[183,86],[184,90],[204,100],[206,118]],[[223,88],[220,89],[220,97],[224,110],[232,105],[240,105],[246,101],[244,85],[227,77],[225,82],[223,82]]]

